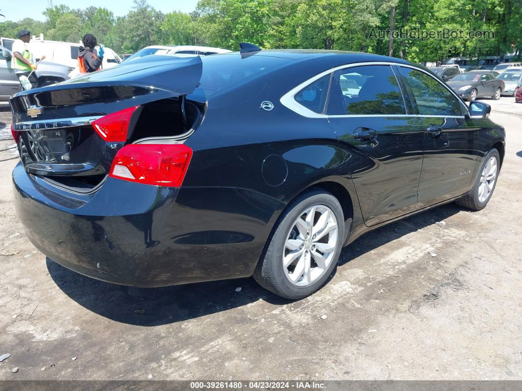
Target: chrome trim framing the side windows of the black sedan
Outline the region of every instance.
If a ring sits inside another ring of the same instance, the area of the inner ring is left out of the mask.
[[[334,73],[334,72],[336,72],[336,70],[340,70],[340,69],[347,69],[347,68],[353,68],[353,67],[356,67],[356,66],[365,66],[365,65],[388,65],[388,66],[395,65],[395,66],[402,66],[402,67],[405,67],[405,68],[415,69],[415,70],[418,70],[419,72],[425,73],[426,75],[428,75],[431,78],[435,79],[438,82],[438,84],[443,86],[447,91],[452,93],[452,95],[455,98],[457,98],[458,102],[460,103],[461,109],[462,109],[462,106],[464,106],[464,108],[466,108],[466,110],[467,110],[467,106],[462,101],[462,99],[460,99],[460,97],[453,90],[447,88],[443,84],[442,81],[440,81],[437,78],[433,77],[433,75],[431,75],[429,72],[426,72],[424,69],[418,68],[418,67],[410,65],[410,64],[401,64],[401,63],[394,63],[394,62],[389,62],[389,61],[373,61],[373,62],[345,64],[345,65],[336,66],[334,68],[330,68],[328,70],[325,70],[324,72],[321,72],[321,73],[311,77],[310,79],[307,79],[307,80],[303,81],[298,86],[295,86],[290,91],[285,93],[279,99],[279,102],[283,106],[285,106],[287,109],[290,109],[294,113],[297,113],[297,114],[302,115],[303,117],[307,117],[307,118],[326,118],[327,119],[327,118],[350,118],[350,117],[414,117],[414,116],[417,116],[417,117],[441,117],[441,118],[465,118],[465,115],[417,115],[417,114],[339,114],[339,115],[327,115],[327,114],[319,114],[319,113],[316,113],[316,112],[314,112],[314,111],[312,111],[310,109],[307,109],[307,108],[305,108],[305,106],[303,106],[302,104],[298,103],[294,99],[294,96],[295,96],[296,93],[301,91],[306,86],[312,84],[314,81],[322,78],[325,75],[328,75],[329,73]],[[393,68],[392,68],[392,72],[393,72]],[[397,77],[397,75],[395,77]]]

